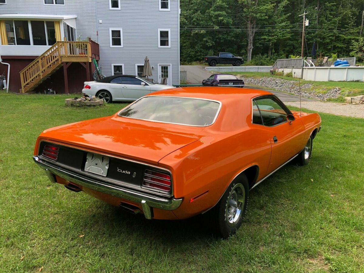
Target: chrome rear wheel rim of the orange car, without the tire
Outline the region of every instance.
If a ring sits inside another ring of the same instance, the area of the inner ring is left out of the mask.
[[[245,188],[242,184],[234,186],[226,203],[226,222],[234,226],[241,218],[245,203]]]

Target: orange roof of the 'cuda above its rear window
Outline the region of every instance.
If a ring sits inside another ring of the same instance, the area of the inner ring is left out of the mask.
[[[210,99],[210,100],[218,100],[222,103],[231,103],[234,102],[234,100],[241,100],[241,99],[250,100],[257,96],[272,95],[272,93],[253,88],[201,86],[201,87],[179,87],[179,88],[165,89],[153,92],[150,95]]]

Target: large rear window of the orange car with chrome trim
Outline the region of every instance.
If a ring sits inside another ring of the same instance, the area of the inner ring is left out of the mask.
[[[221,103],[212,100],[147,96],[119,113],[127,118],[189,126],[209,126],[217,118]]]

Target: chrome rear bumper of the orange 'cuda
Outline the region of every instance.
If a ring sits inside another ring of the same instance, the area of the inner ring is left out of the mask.
[[[102,180],[91,178],[86,175],[55,166],[54,164],[44,161],[37,156],[34,156],[33,160],[41,167],[41,169],[46,171],[46,174],[51,182],[56,182],[54,175],[57,175],[66,179],[67,181],[74,182],[88,189],[140,203],[143,208],[143,213],[147,219],[152,218],[150,207],[155,207],[162,210],[175,210],[182,203],[182,198],[175,199],[158,197],[143,193],[142,191],[129,189],[127,187],[112,185],[110,183],[103,182]]]

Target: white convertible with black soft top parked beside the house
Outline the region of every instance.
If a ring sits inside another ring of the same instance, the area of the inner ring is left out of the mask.
[[[115,75],[93,82],[84,82],[83,93],[105,99],[109,102],[130,102],[151,92],[174,88],[163,84],[154,84],[138,76]]]

